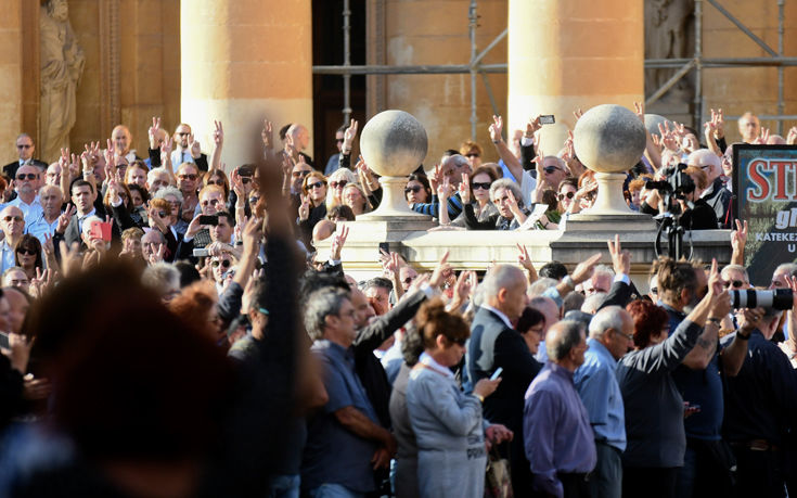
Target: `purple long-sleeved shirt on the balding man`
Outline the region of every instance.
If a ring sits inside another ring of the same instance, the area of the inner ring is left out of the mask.
[[[535,489],[562,498],[557,472],[591,472],[597,462],[587,409],[573,384],[573,372],[548,362],[526,391],[523,443]]]

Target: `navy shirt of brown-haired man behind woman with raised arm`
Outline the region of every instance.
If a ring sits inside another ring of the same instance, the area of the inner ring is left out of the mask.
[[[660,303],[660,306],[670,316],[670,335],[672,335],[678,324],[686,318],[686,315],[664,303]],[[686,437],[719,440],[724,413],[719,347],[705,370],[692,370],[685,365],[680,365],[672,372],[672,380],[676,381],[676,386],[685,403],[691,406],[699,405],[700,407],[699,411],[689,416],[683,421]]]

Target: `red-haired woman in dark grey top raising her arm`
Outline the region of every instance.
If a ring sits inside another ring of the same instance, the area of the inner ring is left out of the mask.
[[[634,349],[618,361],[616,370],[628,438],[622,455],[622,496],[673,498],[686,435],[683,398],[671,372],[692,350],[707,320],[728,315],[730,295],[715,264],[708,293],[669,337],[668,315],[663,308],[639,299],[627,310],[634,321]]]

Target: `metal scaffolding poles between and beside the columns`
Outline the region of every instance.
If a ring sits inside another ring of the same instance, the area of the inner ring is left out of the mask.
[[[797,58],[784,56],[784,10],[785,0],[777,0],[777,50],[772,49],[766,41],[756,36],[744,23],[729,12],[719,0],[694,0],[695,1],[695,49],[691,59],[646,59],[644,63],[645,69],[651,68],[677,68],[678,71],[654,91],[651,97],[645,100],[645,106],[651,105],[664,97],[678,81],[695,72],[695,95],[694,104],[694,123],[699,125],[704,120],[704,100],[703,100],[703,71],[706,68],[717,67],[776,67],[777,68],[777,114],[759,115],[760,119],[776,120],[777,133],[783,135],[783,122],[797,119],[797,115],[785,115],[784,102],[784,68],[787,66],[797,66]],[[769,56],[762,58],[704,58],[703,56],[703,3],[707,1],[724,17],[733,23],[742,33],[761,47]],[[471,60],[467,64],[430,64],[430,65],[351,65],[350,50],[350,17],[349,0],[344,0],[343,10],[343,31],[344,31],[344,64],[343,65],[314,65],[313,74],[318,75],[342,75],[344,80],[344,108],[343,114],[345,123],[348,123],[351,116],[351,76],[352,75],[440,75],[440,74],[470,74],[471,75],[471,138],[476,139],[477,124],[477,76],[481,77],[487,95],[490,100],[493,113],[499,114],[498,105],[492,93],[487,74],[489,73],[506,73],[507,64],[481,64],[481,60],[492,50],[501,40],[503,40],[509,28],[490,41],[487,47],[478,52],[476,46],[476,29],[478,27],[477,0],[471,0],[468,5],[468,38],[471,42]],[[727,119],[736,119],[740,116],[725,116]]]

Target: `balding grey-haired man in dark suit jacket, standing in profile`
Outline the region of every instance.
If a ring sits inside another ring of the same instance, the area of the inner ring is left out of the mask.
[[[475,385],[503,370],[498,390],[485,399],[484,411],[486,419],[515,433],[510,447],[512,485],[517,496],[524,496],[530,489],[530,475],[523,451],[523,395],[541,368],[512,325],[526,307],[526,276],[515,266],[498,265],[481,286],[485,301],[471,324],[468,374]]]

